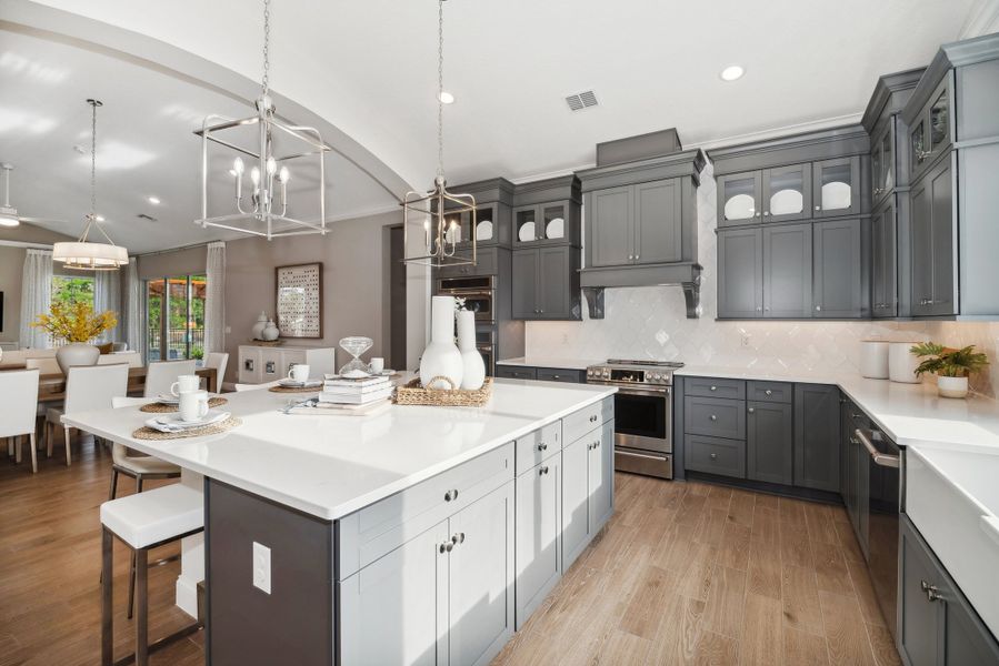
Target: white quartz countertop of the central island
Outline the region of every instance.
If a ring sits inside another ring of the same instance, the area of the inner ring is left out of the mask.
[[[497,380],[481,408],[392,405],[372,416],[284,415],[290,398],[227,393],[239,427],[187,440],[136,440],[154,414],[81,412],[64,423],[324,519],[337,519],[596,403],[616,389]]]

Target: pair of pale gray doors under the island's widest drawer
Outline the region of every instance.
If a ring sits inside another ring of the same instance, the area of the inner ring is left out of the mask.
[[[513,484],[340,583],[340,663],[488,664],[513,634]]]

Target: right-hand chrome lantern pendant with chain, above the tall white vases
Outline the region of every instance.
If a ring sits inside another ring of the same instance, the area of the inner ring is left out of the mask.
[[[476,198],[456,194],[447,189],[444,179],[444,9],[437,2],[437,178],[429,192],[407,192],[402,200],[403,246],[407,263],[432,268],[476,265]],[[461,224],[466,221],[467,224]],[[419,243],[410,244],[410,226],[422,223]],[[468,239],[461,238],[462,226]],[[457,253],[458,243],[467,251]],[[410,248],[418,248],[410,256]]]

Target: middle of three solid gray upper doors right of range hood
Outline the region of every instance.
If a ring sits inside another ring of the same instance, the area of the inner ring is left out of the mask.
[[[811,316],[812,225],[763,229],[763,316]]]

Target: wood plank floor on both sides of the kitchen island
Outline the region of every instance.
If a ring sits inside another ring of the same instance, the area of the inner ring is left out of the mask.
[[[0,457],[2,666],[98,663],[98,507],[111,456],[89,444],[73,454],[72,467],[42,456],[37,475]],[[496,665],[899,663],[841,508],[628,474],[616,483],[615,517]],[[127,553],[114,553],[119,657],[132,645]],[[152,639],[189,622],[173,605],[179,567],[150,571]],[[202,642],[151,662],[202,664]]]

